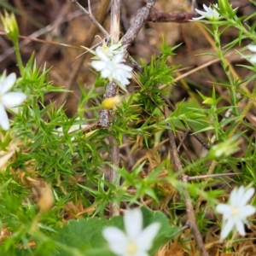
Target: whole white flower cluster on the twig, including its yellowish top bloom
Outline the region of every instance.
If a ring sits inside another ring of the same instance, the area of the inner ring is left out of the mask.
[[[96,51],[90,52],[96,55],[96,61],[92,61],[91,66],[101,73],[103,79],[116,82],[122,88],[130,83],[128,79],[131,79],[132,68],[124,64],[124,47],[120,42],[109,47],[103,43]]]

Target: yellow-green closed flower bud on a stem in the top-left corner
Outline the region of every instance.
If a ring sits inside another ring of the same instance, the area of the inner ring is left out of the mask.
[[[1,20],[3,22],[4,30],[7,33],[8,37],[16,41],[19,38],[19,27],[17,25],[15,15],[12,13],[9,15],[7,11],[4,12],[4,15],[1,15]]]

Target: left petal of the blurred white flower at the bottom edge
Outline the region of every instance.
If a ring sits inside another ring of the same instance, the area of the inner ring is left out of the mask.
[[[127,237],[118,228],[108,227],[102,231],[102,235],[108,241],[108,246],[113,253],[118,255],[126,254]]]

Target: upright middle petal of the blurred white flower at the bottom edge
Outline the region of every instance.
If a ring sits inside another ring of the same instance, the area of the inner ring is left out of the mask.
[[[128,237],[135,238],[143,230],[143,213],[140,209],[132,209],[125,212],[125,231]]]

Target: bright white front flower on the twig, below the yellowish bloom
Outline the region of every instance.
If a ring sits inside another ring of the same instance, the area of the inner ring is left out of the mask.
[[[124,55],[119,53],[114,55],[113,59],[108,58],[101,48],[96,49],[96,56],[99,57],[99,61],[92,61],[91,66],[96,69],[96,71],[101,72],[101,76],[104,79],[109,79],[110,81],[115,81],[121,86],[129,84],[131,79],[132,68],[123,64]]]

